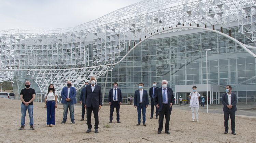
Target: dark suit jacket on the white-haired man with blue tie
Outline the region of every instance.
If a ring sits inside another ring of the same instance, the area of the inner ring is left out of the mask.
[[[167,97],[168,97],[168,106],[174,105],[174,95],[171,88],[167,87]],[[156,89],[156,92],[154,93],[154,104],[155,106],[158,104],[158,112],[162,111],[163,108],[163,94],[162,94],[162,88]],[[172,107],[168,108],[169,111],[172,110]]]

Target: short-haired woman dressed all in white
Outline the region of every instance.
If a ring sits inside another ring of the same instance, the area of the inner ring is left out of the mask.
[[[193,92],[191,92],[189,94],[189,107],[191,108],[191,112],[192,112],[192,122],[195,121],[195,112],[196,112],[196,119],[197,122],[199,122],[198,120],[198,109],[199,109],[199,99],[200,99],[200,94],[196,91],[197,86],[193,86]]]

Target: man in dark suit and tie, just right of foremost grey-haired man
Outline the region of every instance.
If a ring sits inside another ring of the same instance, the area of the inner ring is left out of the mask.
[[[119,109],[120,105],[122,104],[122,92],[120,89],[117,88],[118,84],[116,82],[113,83],[114,88],[109,90],[109,105],[110,105],[110,115],[109,115],[109,123],[112,123],[113,120],[113,112],[116,108],[116,121],[117,123],[120,122],[119,117]]]

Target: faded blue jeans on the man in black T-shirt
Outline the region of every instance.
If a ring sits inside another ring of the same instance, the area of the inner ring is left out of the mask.
[[[34,125],[34,118],[33,118],[33,105],[26,106],[25,104],[20,105],[21,112],[22,112],[22,121],[21,125],[25,126],[25,117],[28,109],[28,115],[29,115],[29,125]]]

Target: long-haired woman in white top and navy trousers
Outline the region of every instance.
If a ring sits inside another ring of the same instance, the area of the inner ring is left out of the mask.
[[[55,92],[53,84],[48,87],[48,92],[44,96],[44,108],[47,111],[47,127],[55,125],[55,109],[57,108],[57,93]]]

